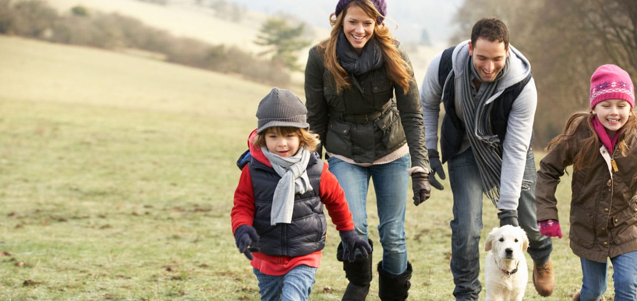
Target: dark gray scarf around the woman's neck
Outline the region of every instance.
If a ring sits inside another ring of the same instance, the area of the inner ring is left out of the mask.
[[[354,51],[354,47],[350,45],[343,31],[338,34],[338,40],[336,41],[336,57],[343,69],[350,75],[354,86],[361,94],[363,94],[362,87],[355,76],[378,69],[382,67],[385,62],[383,52],[376,44],[375,39],[369,39],[362,48],[361,55],[358,55]]]

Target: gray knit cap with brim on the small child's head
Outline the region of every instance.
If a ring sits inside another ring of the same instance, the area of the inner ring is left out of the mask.
[[[270,93],[261,99],[257,108],[257,134],[269,127],[299,127],[307,129],[308,109],[301,99],[290,90],[272,88]]]

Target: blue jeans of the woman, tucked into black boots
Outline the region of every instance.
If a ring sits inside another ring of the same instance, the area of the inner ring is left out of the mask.
[[[354,217],[354,227],[362,239],[368,239],[367,193],[372,179],[378,208],[378,235],[383,246],[382,269],[390,274],[403,274],[407,269],[407,246],[404,239],[404,212],[410,156],[386,164],[361,167],[338,158],[328,158],[331,171],[343,191]]]

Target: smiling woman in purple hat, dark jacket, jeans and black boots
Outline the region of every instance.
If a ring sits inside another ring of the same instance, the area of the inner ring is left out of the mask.
[[[383,247],[378,294],[393,300],[407,297],[412,276],[404,239],[408,176],[414,204],[428,199],[431,188],[418,88],[407,55],[383,24],[386,10],[383,0],[338,1],[330,37],[310,50],[305,97],[310,129],[320,135],[363,239],[373,179]],[[341,249],[337,258],[343,261]],[[365,299],[371,260],[370,253],[343,261],[350,281],[343,300]]]

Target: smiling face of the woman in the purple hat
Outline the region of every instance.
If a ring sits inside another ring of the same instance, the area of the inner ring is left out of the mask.
[[[343,32],[356,53],[361,54],[362,48],[374,35],[375,25],[376,19],[366,15],[359,6],[352,5],[347,9],[343,17]]]

